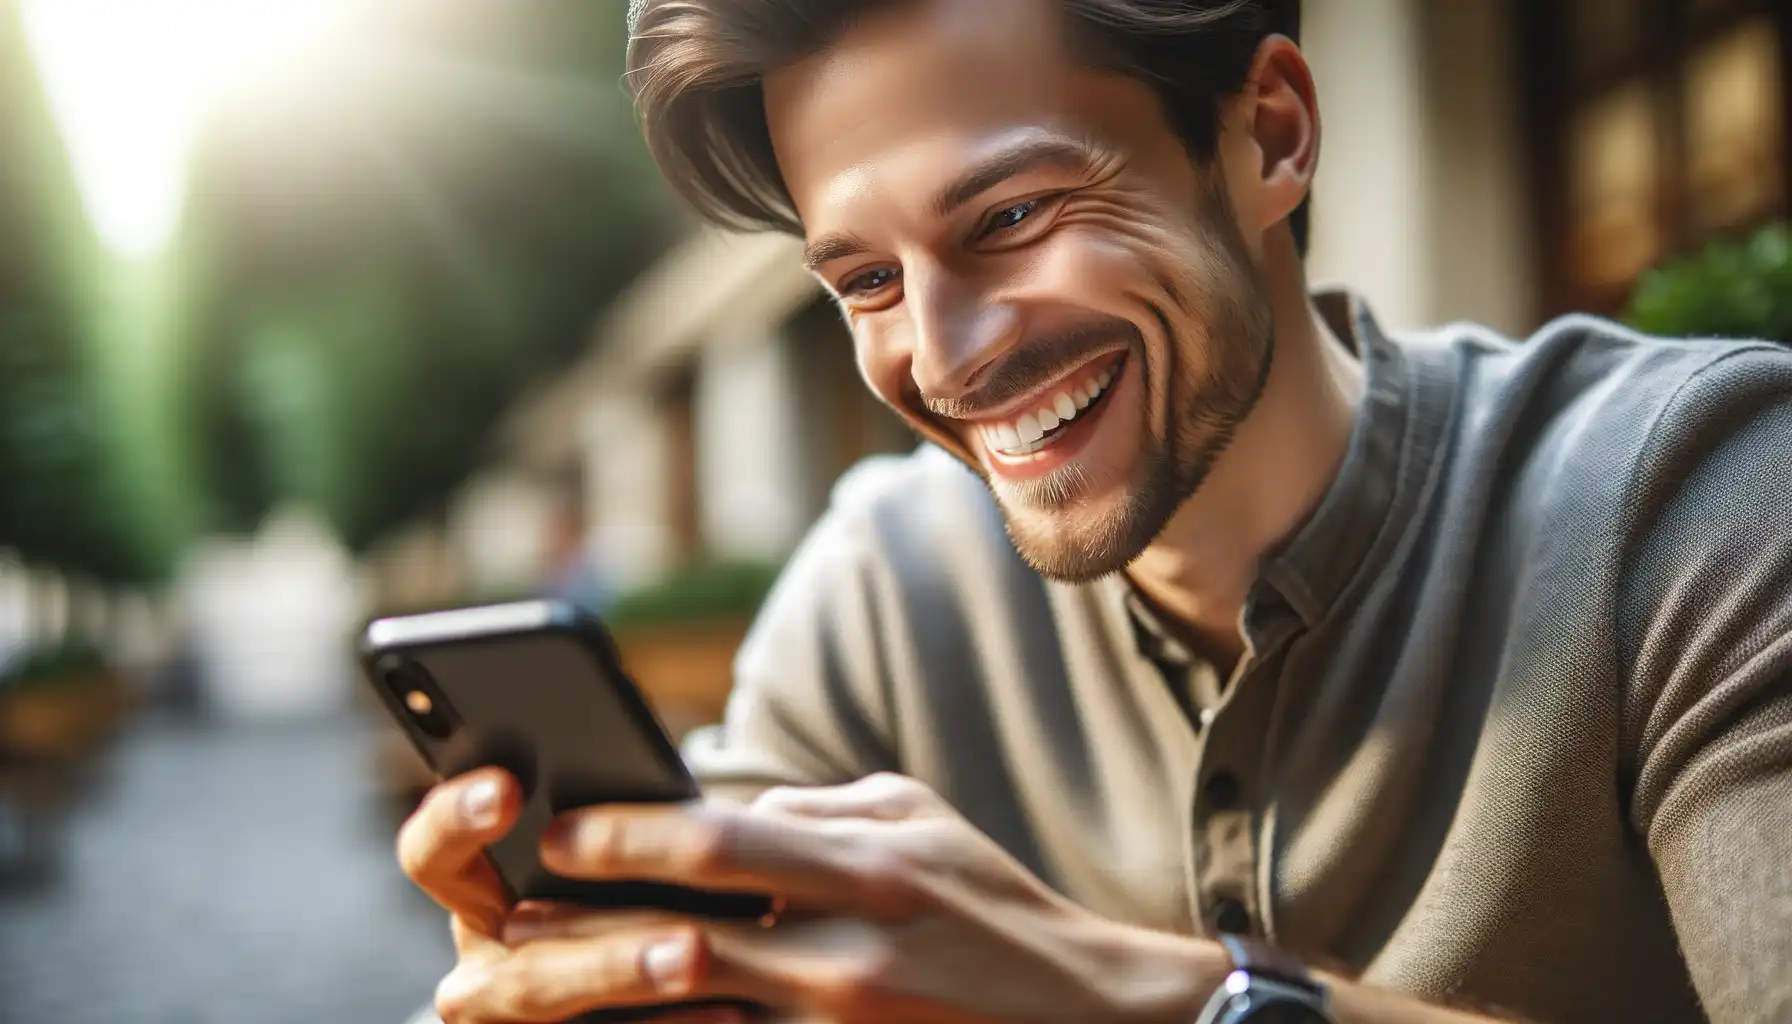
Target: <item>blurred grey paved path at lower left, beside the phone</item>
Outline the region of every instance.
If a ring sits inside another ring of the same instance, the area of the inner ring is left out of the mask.
[[[145,725],[54,882],[0,895],[4,1024],[398,1024],[452,961],[355,721]]]

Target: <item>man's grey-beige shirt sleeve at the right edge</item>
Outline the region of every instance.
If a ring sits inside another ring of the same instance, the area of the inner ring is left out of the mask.
[[[1792,1020],[1792,355],[1690,378],[1636,481],[1631,821],[1710,1019]]]

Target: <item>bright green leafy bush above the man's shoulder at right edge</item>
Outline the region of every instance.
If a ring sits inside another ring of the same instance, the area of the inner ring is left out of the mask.
[[[1762,228],[1643,274],[1625,314],[1670,337],[1740,337],[1792,344],[1792,230]]]

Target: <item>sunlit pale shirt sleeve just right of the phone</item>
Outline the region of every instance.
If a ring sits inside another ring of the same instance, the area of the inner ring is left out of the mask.
[[[774,785],[839,785],[898,771],[878,629],[880,545],[853,470],[797,547],[735,658],[719,726],[685,741],[704,794],[753,800]]]

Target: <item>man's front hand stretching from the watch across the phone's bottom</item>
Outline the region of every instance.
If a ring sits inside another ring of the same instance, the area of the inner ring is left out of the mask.
[[[444,979],[450,1024],[745,999],[805,1019],[1193,1020],[1213,943],[1102,920],[1027,873],[918,782],[778,789],[753,807],[602,807],[543,861],[581,879],[774,893],[774,927],[575,909],[518,913]]]

